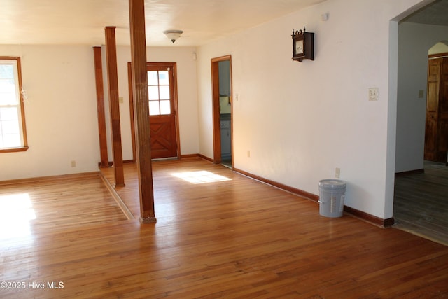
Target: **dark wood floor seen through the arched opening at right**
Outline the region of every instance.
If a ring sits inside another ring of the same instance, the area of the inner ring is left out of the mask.
[[[427,163],[424,173],[395,179],[395,227],[448,246],[448,167]]]

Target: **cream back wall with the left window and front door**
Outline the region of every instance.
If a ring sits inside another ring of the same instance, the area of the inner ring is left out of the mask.
[[[148,60],[177,62],[181,154],[198,153],[195,48],[148,48]],[[123,158],[132,159],[127,62],[130,47],[118,46],[118,88]],[[27,90],[29,150],[0,154],[0,181],[98,171],[99,137],[91,46],[0,46],[1,56],[20,56]],[[106,61],[103,60],[103,67]],[[104,76],[106,101],[107,77]],[[109,130],[109,106],[106,106]],[[110,133],[108,142],[111,143]],[[71,167],[71,161],[76,167]],[[109,160],[112,160],[109,152]]]

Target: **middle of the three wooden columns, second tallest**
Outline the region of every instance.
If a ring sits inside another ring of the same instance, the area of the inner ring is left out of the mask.
[[[118,99],[116,27],[104,28],[106,32],[107,81],[109,83],[109,107],[111,110],[112,153],[115,169],[115,186],[125,186],[123,151],[121,146],[120,103]]]

